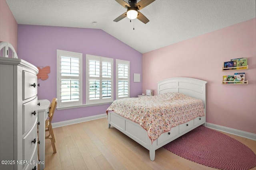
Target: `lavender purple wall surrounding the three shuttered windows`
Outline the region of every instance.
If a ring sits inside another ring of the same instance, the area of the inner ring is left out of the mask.
[[[133,82],[133,73],[142,74],[142,54],[101,29],[18,25],[18,57],[35,66],[50,66],[49,78],[38,80],[38,99],[56,97],[56,50],[83,54],[83,103],[86,96],[86,54],[130,61],[130,97],[142,94],[142,81]],[[114,68],[115,76],[115,68]],[[114,78],[115,80],[115,78]],[[115,89],[115,83],[114,83]],[[114,98],[115,98],[114,91]],[[106,113],[110,104],[56,110],[53,122],[78,119]]]

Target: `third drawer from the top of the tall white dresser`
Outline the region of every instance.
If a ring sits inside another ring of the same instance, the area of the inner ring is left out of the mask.
[[[35,122],[31,131],[23,138],[23,160],[30,160],[37,149],[37,142],[37,122]]]

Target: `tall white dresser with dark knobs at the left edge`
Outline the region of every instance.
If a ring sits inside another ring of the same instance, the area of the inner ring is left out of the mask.
[[[36,170],[37,76],[32,64],[0,57],[0,170]]]

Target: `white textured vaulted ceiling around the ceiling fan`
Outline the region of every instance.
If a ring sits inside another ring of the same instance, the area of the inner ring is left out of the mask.
[[[150,20],[146,24],[128,18],[114,22],[126,12],[115,0],[6,2],[18,24],[102,29],[140,53],[256,17],[256,0],[156,0],[140,10]]]

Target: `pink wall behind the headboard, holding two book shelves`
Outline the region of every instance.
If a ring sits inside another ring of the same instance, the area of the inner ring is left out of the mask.
[[[248,70],[222,72],[230,59],[248,58]],[[222,76],[245,72],[248,85],[223,85]],[[256,19],[142,55],[142,91],[171,77],[207,81],[206,122],[256,134]]]

